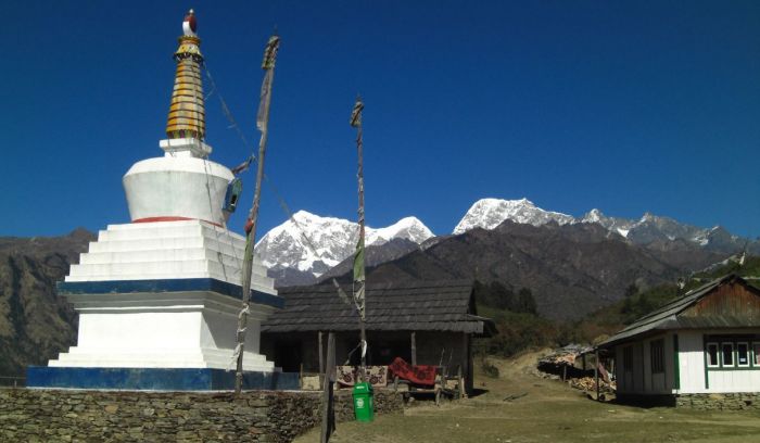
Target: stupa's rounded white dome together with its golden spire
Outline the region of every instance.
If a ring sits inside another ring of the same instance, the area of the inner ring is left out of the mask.
[[[229,216],[223,205],[235,176],[208,160],[212,148],[204,142],[203,55],[195,29],[191,10],[174,53],[177,71],[166,124],[168,139],[160,143],[164,156],[140,161],[124,176],[132,223],[200,219],[223,226]]]

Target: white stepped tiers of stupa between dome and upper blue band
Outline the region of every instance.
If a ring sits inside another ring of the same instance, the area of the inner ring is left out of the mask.
[[[240,284],[245,239],[202,220],[109,225],[66,282],[211,278]],[[254,257],[251,289],[275,293]]]

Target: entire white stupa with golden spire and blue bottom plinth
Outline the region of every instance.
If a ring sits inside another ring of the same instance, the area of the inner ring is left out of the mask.
[[[204,142],[203,55],[192,11],[182,27],[174,54],[168,139],[160,142],[164,155],[137,162],[127,172],[124,188],[131,223],[101,230],[59,283],[59,292],[79,313],[77,344],[50,360],[49,368],[30,368],[29,385],[135,388],[109,381],[107,371],[90,371],[97,381],[78,385],[81,380],[72,380],[84,372],[66,375],[66,368],[124,369],[144,379],[141,387],[156,389],[187,384],[161,384],[156,374],[173,378],[188,372],[136,369],[201,370],[190,372],[194,376],[213,369],[214,375],[206,376],[232,376],[226,370],[235,367],[245,239],[226,227],[237,200],[235,191],[228,192],[235,177],[208,160],[212,149]],[[258,353],[259,325],[282,301],[257,258],[250,289],[243,369],[273,372],[273,363]]]

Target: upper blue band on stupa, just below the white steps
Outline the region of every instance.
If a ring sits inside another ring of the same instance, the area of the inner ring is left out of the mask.
[[[107,281],[60,281],[60,295],[67,294],[128,294],[145,292],[217,292],[242,300],[242,288],[215,278],[174,278],[160,280],[107,280]],[[251,303],[277,308],[284,307],[284,300],[266,292],[251,290]]]

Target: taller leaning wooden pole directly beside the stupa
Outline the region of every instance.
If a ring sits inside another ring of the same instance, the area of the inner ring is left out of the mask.
[[[264,178],[264,156],[266,154],[266,142],[268,138],[269,104],[271,102],[271,85],[275,76],[275,59],[280,39],[271,36],[264,50],[264,62],[262,68],[266,72],[262,84],[262,97],[256,117],[256,126],[262,131],[258,142],[258,167],[256,168],[256,188],[253,192],[253,205],[245,223],[245,254],[243,256],[242,269],[242,309],[238,316],[238,333],[235,352],[238,357],[237,370],[235,374],[235,392],[240,394],[243,389],[243,354],[245,351],[245,329],[248,328],[248,314],[251,306],[251,275],[253,269],[253,249],[256,244],[256,224],[258,221],[258,205],[262,198],[262,179]]]

